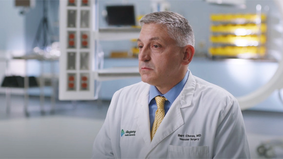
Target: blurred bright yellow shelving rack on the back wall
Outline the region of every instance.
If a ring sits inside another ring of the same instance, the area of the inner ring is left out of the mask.
[[[267,17],[264,14],[212,14],[211,57],[261,58],[265,56]]]

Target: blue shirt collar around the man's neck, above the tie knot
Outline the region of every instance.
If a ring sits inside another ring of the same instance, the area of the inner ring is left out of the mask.
[[[162,93],[160,93],[159,90],[155,86],[150,85],[148,104],[156,96],[164,96],[167,100],[169,100],[170,103],[173,103],[175,99],[179,96],[179,94],[181,93],[188,77],[189,77],[189,71],[187,71],[185,77],[178,84],[176,84],[173,88],[171,88],[164,95],[162,95]]]

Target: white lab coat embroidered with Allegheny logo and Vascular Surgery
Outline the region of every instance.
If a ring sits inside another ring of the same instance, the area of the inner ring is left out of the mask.
[[[224,89],[190,73],[152,141],[148,98],[144,82],[113,95],[93,158],[250,158],[238,101]]]

